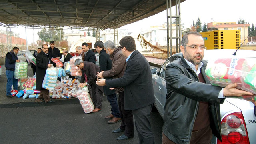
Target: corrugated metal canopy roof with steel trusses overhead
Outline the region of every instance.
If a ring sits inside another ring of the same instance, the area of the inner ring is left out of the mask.
[[[166,0],[0,0],[0,26],[104,30],[163,10]]]

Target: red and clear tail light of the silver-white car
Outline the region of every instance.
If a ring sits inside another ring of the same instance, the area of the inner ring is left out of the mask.
[[[222,142],[217,144],[250,144],[242,112],[227,115],[221,121]]]

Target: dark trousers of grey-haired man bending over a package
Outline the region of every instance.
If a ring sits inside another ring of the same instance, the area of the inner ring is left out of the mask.
[[[103,92],[94,84],[92,84],[91,87],[92,87],[91,97],[92,97],[92,102],[94,104],[94,107],[101,109]]]

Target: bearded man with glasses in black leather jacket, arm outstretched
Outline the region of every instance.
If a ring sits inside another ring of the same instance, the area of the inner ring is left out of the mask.
[[[226,96],[252,95],[236,89],[212,86],[206,77],[204,38],[197,32],[184,34],[183,56],[166,67],[166,104],[163,144],[210,144],[212,134],[221,140],[220,104]]]

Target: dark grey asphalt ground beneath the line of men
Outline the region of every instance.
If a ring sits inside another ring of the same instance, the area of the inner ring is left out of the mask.
[[[153,68],[153,67],[151,67]],[[6,76],[2,66],[0,80],[0,144],[138,144],[134,138],[118,141],[114,134],[121,122],[108,124],[110,104],[103,97],[102,110],[85,114],[79,100],[59,99],[56,103],[34,103],[34,99],[6,98]],[[28,65],[28,76],[32,69]],[[156,109],[151,113],[156,144],[162,144],[163,120]]]

